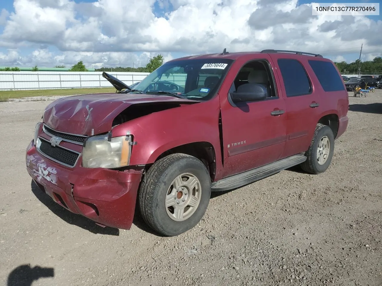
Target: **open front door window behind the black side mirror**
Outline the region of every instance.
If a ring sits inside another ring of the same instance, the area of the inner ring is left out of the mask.
[[[255,60],[241,67],[231,85],[230,93],[235,92],[244,84],[261,84],[267,90],[267,98],[277,98],[275,80],[269,63],[265,60]]]

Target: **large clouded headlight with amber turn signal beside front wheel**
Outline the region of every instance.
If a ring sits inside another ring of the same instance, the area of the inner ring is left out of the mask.
[[[111,138],[108,134],[87,138],[83,152],[82,165],[86,168],[118,168],[129,164],[131,135]]]

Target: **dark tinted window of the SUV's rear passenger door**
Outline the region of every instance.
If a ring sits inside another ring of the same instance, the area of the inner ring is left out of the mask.
[[[286,96],[312,93],[312,85],[302,64],[295,59],[278,59],[278,66],[284,80]]]

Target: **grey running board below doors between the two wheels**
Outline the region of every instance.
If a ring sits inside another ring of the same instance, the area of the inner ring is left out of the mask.
[[[276,174],[282,170],[298,165],[304,161],[306,161],[306,156],[304,156],[304,153],[287,157],[262,167],[258,167],[214,182],[212,183],[211,191],[220,192],[239,188],[241,186],[261,180],[270,175]]]

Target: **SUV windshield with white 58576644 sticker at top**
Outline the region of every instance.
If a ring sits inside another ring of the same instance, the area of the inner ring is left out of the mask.
[[[232,59],[186,59],[163,64],[134,87],[143,93],[209,100],[219,88]],[[134,93],[134,92],[132,92]]]

